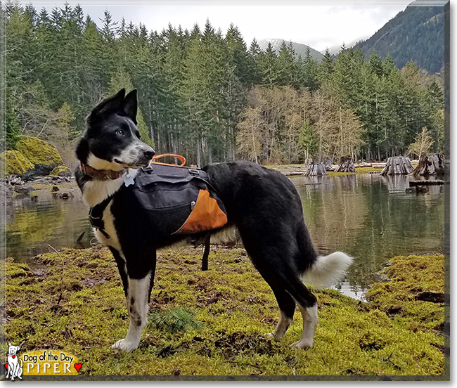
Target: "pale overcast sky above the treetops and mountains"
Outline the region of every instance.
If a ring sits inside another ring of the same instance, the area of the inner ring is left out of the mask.
[[[98,25],[103,11],[108,9],[113,20],[122,17],[138,25],[142,22],[148,31],[160,32],[169,22],[191,30],[198,23],[203,27],[210,19],[213,27],[225,34],[233,22],[249,46],[252,38],[285,39],[307,44],[318,51],[333,46],[347,46],[359,39],[371,37],[397,13],[404,11],[412,0],[340,0],[340,1],[68,1],[81,4]],[[435,0],[428,1],[432,3]],[[436,1],[435,1],[436,2]],[[27,1],[24,2],[27,4]],[[62,7],[64,1],[36,0],[31,3],[38,9]],[[444,1],[440,1],[444,3]],[[280,5],[281,4],[281,5]],[[440,5],[441,5],[440,4]]]

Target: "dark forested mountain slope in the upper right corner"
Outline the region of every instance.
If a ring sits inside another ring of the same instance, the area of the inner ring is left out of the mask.
[[[390,54],[397,67],[408,60],[428,72],[439,72],[444,65],[444,6],[421,6],[413,1],[389,20],[373,37],[356,44],[366,55],[376,50],[382,59]]]

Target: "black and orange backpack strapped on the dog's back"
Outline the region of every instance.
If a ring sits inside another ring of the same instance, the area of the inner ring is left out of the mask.
[[[154,239],[211,231],[227,223],[224,203],[200,169],[153,162],[139,169],[125,189],[129,215],[147,225]]]

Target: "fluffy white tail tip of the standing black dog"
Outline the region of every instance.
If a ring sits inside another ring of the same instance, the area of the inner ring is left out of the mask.
[[[345,276],[352,257],[343,252],[333,252],[328,256],[318,256],[311,267],[302,275],[303,283],[311,283],[315,287],[330,287]]]

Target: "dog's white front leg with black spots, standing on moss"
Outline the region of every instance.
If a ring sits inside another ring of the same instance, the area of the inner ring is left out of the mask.
[[[150,261],[151,259],[152,261]],[[141,340],[143,328],[148,324],[149,297],[155,273],[155,252],[154,257],[149,257],[148,261],[152,265],[143,269],[131,268],[128,265],[129,261],[127,261],[127,290],[125,290],[124,285],[124,291],[129,311],[129,330],[124,339],[112,345],[113,349],[135,350]],[[141,277],[141,275],[144,276]]]

